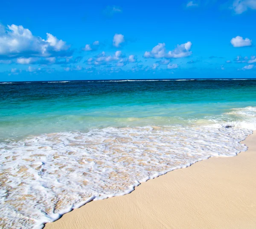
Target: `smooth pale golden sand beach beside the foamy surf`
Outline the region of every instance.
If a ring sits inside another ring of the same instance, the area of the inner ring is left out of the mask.
[[[142,183],[128,195],[91,201],[46,229],[256,228],[256,133],[246,152],[214,157]]]

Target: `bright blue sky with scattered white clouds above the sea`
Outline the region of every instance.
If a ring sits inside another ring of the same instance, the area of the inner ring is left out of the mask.
[[[256,0],[4,1],[0,81],[255,78]]]

